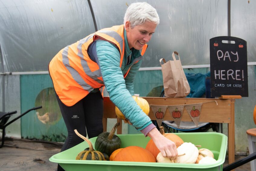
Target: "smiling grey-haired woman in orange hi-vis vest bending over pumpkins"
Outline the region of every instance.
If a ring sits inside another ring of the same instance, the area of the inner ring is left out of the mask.
[[[124,25],[99,30],[52,59],[49,73],[68,129],[61,151],[83,141],[74,129],[83,136],[87,130],[89,138],[103,132],[105,86],[110,100],[137,130],[151,137],[163,156],[177,157],[175,143],[160,134],[132,98],[135,73],[158,24],[155,8],[146,2],[132,3],[125,12]]]

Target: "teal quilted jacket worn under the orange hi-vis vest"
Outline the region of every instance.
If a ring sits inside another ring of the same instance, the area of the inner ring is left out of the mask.
[[[128,48],[126,32],[125,37],[125,55],[120,68],[120,52],[110,42],[97,40],[96,53],[99,67],[105,88],[109,93],[110,100],[120,109],[125,117],[138,130],[142,130],[151,124],[151,119],[141,110],[134,99],[134,78],[141,65],[141,53],[139,50]],[[137,62],[139,61],[139,62]],[[135,63],[137,62],[137,63]],[[131,69],[124,79],[124,74]]]

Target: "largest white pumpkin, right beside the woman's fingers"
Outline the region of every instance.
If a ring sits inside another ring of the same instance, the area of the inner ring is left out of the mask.
[[[192,143],[183,143],[178,148],[178,155],[184,154],[184,156],[179,156],[174,160],[174,163],[195,163],[198,157],[198,149]]]

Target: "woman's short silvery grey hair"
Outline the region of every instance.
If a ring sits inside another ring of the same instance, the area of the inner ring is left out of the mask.
[[[136,2],[129,5],[126,9],[124,17],[125,22],[131,22],[131,28],[136,25],[142,25],[145,21],[159,24],[159,16],[157,10],[147,2]]]

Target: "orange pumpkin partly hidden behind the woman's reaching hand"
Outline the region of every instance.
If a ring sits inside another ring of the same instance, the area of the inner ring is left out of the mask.
[[[166,138],[170,139],[171,141],[173,141],[176,144],[176,147],[178,148],[181,144],[184,143],[184,141],[177,135],[172,134],[172,133],[168,133],[165,134],[164,133],[164,127],[160,126],[160,133],[165,136]],[[155,145],[154,141],[151,139],[149,140],[149,142],[147,143],[146,149],[148,151],[150,151],[150,153],[153,154],[153,156],[155,158],[157,158],[158,153],[160,153],[160,150],[157,148],[157,146]]]

